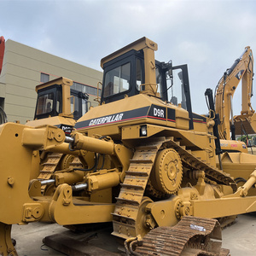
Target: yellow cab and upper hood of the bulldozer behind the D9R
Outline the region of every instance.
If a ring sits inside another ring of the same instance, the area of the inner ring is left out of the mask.
[[[54,125],[69,135],[76,121],[88,111],[89,98],[72,86],[73,81],[63,77],[38,84],[35,116],[26,125]]]

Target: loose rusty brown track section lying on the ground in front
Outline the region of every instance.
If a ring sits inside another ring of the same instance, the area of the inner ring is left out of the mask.
[[[230,250],[221,246],[221,228],[216,219],[187,216],[173,227],[151,230],[135,252],[154,256],[230,255]]]

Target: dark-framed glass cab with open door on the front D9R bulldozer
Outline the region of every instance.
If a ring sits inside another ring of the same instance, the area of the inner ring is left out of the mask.
[[[101,104],[134,96],[145,90],[143,49],[131,49],[105,62],[103,70]],[[172,61],[155,61],[155,79],[150,83],[157,84],[158,96],[162,101],[181,106],[189,112],[189,129],[193,129],[187,65],[172,67]]]

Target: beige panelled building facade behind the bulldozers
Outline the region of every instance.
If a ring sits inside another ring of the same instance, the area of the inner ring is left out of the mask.
[[[37,100],[36,85],[59,77],[72,79],[72,88],[88,93],[91,105],[97,105],[94,99],[102,72],[7,40],[0,75],[0,106],[8,121],[19,120],[25,124],[26,120],[32,120]]]

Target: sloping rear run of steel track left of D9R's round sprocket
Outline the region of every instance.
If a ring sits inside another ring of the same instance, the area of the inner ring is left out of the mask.
[[[119,197],[113,214],[113,235],[127,239],[137,236],[137,216],[143,201],[143,195],[148,183],[148,177],[154,165],[155,156],[166,141],[160,137],[137,147],[124,183],[121,184]]]

